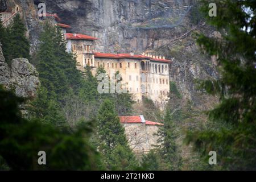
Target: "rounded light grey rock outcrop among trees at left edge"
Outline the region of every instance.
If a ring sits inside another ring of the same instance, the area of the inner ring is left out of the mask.
[[[39,73],[27,59],[17,58],[11,61],[11,68],[6,64],[0,45],[0,84],[14,90],[16,96],[33,98],[40,85]]]

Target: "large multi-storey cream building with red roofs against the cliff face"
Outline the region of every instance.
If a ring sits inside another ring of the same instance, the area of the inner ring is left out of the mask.
[[[83,34],[66,33],[67,51],[76,55],[77,68],[84,71],[92,68],[93,75],[102,67],[106,73],[119,72],[122,86],[133,94],[134,101],[142,101],[143,96],[158,104],[164,104],[170,92],[169,66],[171,61],[164,56],[142,53],[101,53],[94,51],[97,38]]]

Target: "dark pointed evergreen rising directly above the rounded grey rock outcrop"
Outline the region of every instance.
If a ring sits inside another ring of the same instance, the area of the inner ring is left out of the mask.
[[[14,16],[10,25],[8,34],[8,42],[6,43],[6,60],[24,57],[30,59],[30,43],[26,37],[26,27],[19,14]]]

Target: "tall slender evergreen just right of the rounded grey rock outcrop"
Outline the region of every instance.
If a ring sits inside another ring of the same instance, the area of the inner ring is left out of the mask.
[[[44,24],[44,30],[40,34],[40,44],[37,54],[39,64],[37,66],[39,78],[42,86],[48,90],[50,99],[61,100],[68,92],[68,80],[63,69],[59,67],[59,54],[56,49],[59,45],[56,43],[56,28],[50,23]]]

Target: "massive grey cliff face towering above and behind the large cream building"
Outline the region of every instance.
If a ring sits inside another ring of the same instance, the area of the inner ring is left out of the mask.
[[[14,0],[9,0],[14,1]],[[213,32],[205,26],[194,8],[196,0],[15,0],[22,6],[31,45],[38,43],[40,23],[36,19],[39,2],[48,13],[57,13],[70,32],[96,36],[96,51],[144,51],[175,58],[170,80],[176,82],[184,98],[197,105],[202,98],[195,78],[217,77],[209,57],[197,49],[194,31]],[[205,99],[203,99],[205,100]]]

